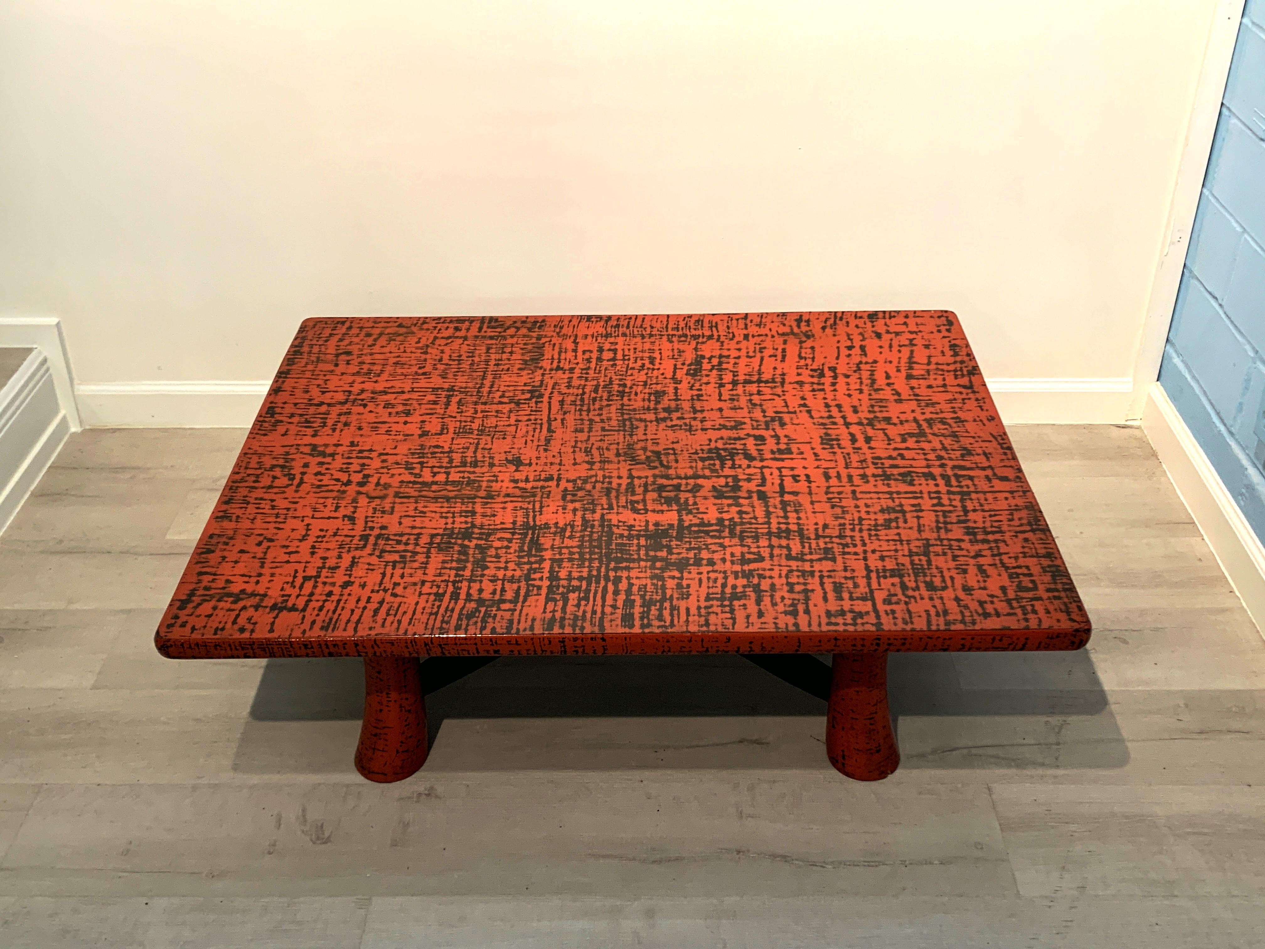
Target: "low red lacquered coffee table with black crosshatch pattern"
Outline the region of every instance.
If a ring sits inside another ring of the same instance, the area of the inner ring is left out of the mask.
[[[872,781],[889,652],[1088,639],[958,319],[889,311],[306,320],[156,642],[363,657],[371,781],[419,657],[832,653]]]

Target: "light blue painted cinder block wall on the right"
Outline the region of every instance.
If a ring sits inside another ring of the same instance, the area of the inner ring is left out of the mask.
[[[1249,0],[1160,385],[1265,538],[1265,0]]]

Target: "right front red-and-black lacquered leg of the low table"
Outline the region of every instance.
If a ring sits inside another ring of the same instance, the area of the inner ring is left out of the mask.
[[[901,763],[887,709],[887,653],[840,653],[831,668],[830,763],[858,781],[885,778]]]

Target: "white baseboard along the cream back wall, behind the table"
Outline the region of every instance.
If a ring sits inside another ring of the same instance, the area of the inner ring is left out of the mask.
[[[1123,423],[1128,378],[994,378],[988,388],[1002,420]],[[85,425],[97,428],[245,428],[254,421],[266,381],[104,382],[76,388]]]

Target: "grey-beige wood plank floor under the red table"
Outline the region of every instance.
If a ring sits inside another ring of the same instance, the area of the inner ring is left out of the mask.
[[[1093,643],[893,657],[877,785],[732,657],[500,661],[362,781],[357,661],[153,650],[243,435],[75,435],[0,537],[0,945],[1261,944],[1265,639],[1137,429],[1012,429]]]

